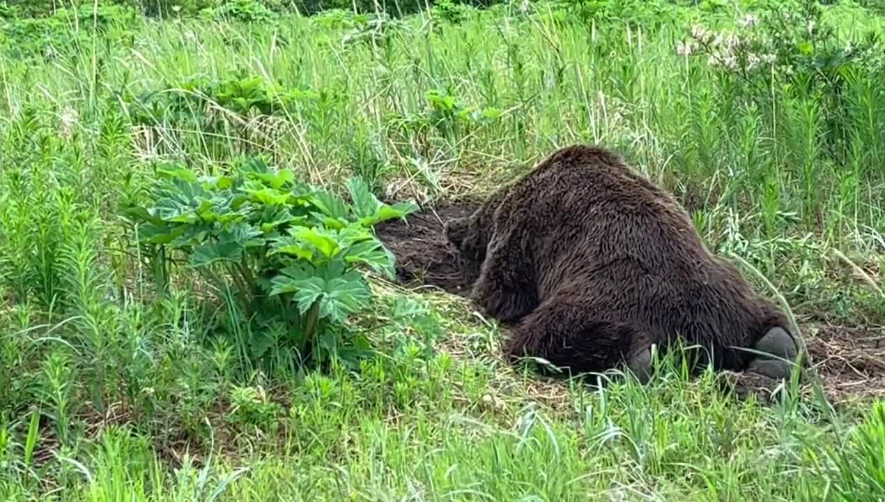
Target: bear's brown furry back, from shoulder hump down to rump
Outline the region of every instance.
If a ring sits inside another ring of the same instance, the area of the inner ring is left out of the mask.
[[[504,211],[530,215],[513,223],[530,228],[542,297],[586,282],[587,296],[619,319],[688,331],[694,341],[737,340],[756,328],[748,320],[760,315],[758,297],[743,276],[706,249],[673,195],[612,151],[556,151],[508,198]]]

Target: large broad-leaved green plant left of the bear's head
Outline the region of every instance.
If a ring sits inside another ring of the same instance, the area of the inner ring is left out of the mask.
[[[348,181],[346,203],[258,158],[239,168],[219,176],[160,170],[150,205],[124,209],[159,289],[168,289],[171,267],[183,256],[254,323],[254,333],[281,333],[277,340],[304,358],[334,356],[348,316],[370,305],[363,271],[393,276],[394,257],[373,226],[416,207],[383,204],[358,179]],[[253,337],[253,355],[265,355],[272,343]]]

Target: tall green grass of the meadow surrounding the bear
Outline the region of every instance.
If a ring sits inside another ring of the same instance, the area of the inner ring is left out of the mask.
[[[806,336],[881,328],[885,73],[843,70],[836,98],[780,73],[748,94],[676,54],[692,22],[736,26],[733,7],[583,22],[501,5],[374,35],[341,13],[120,18],[97,35],[86,16],[50,45],[6,40],[0,498],[881,499],[881,405],[837,403],[823,382],[763,406],[678,367],[645,387],[548,381],[500,360],[502,330],[442,293],[373,281],[381,301],[349,329],[379,355],[357,367],[254,365],[234,342],[245,335],[224,331],[248,324],[187,267],[170,295],[154,290],[118,216],[170,159],[218,172],[260,154],[330,188],[358,174],[432,203],[604,143],[672,189]],[[883,26],[847,3],[827,19],[840,42]],[[167,98],[197,77],[250,76],[298,97],[271,116]],[[427,314],[398,312],[406,299]]]

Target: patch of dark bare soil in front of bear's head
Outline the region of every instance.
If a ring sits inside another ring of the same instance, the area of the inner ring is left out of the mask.
[[[396,278],[409,286],[435,286],[466,296],[469,285],[461,277],[458,260],[443,234],[447,220],[469,215],[478,203],[437,205],[413,212],[406,221],[390,220],[376,228],[378,237],[396,256]]]

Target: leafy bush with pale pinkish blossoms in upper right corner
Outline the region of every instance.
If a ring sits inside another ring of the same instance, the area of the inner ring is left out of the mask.
[[[758,13],[738,21],[734,33],[716,33],[701,25],[691,28],[687,42],[677,50],[704,57],[721,81],[742,89],[743,96],[770,109],[772,79],[783,82],[793,96],[812,97],[827,117],[820,134],[827,151],[848,157],[850,127],[846,127],[845,94],[860,75],[880,74],[885,68],[881,35],[870,31],[845,42],[814,0],[766,4]],[[781,97],[779,97],[781,98]]]

